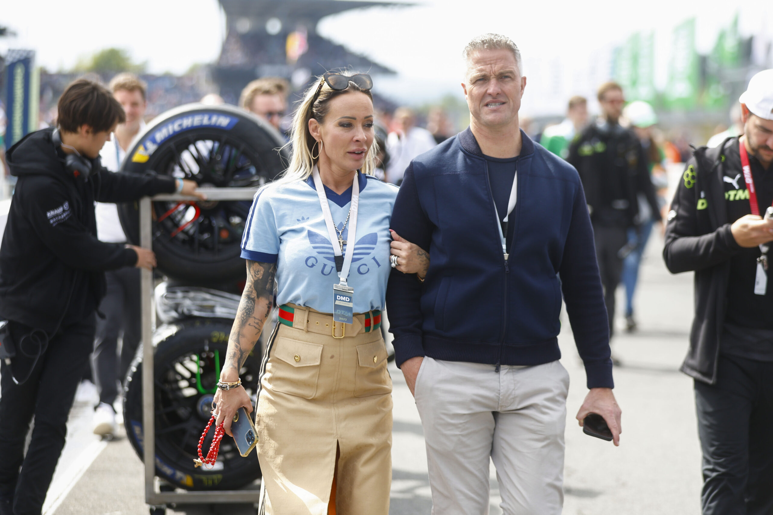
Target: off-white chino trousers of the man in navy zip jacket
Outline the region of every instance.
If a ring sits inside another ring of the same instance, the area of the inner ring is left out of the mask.
[[[557,515],[564,504],[569,374],[424,357],[415,398],[427,444],[433,515],[489,513],[489,456],[505,515]]]

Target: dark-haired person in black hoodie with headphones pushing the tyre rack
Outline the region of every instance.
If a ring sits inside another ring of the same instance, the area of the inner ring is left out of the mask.
[[[94,201],[175,189],[192,195],[196,188],[194,181],[101,167],[100,148],[124,121],[104,86],[73,82],[58,110],[58,129],[28,134],[7,154],[19,180],[0,246],[0,320],[9,320],[17,354],[0,364],[0,515],[41,512],[94,342],[104,271],[155,266],[148,249],[97,239]]]

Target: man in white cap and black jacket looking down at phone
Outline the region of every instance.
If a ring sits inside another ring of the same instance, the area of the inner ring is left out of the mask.
[[[701,147],[668,216],[663,257],[695,272],[682,371],[695,380],[703,515],[773,513],[773,69],[749,81],[744,136]]]

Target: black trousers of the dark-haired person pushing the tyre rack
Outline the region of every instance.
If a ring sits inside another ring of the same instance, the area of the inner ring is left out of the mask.
[[[43,508],[64,447],[75,391],[94,343],[94,328],[94,314],[63,327],[22,385],[14,383],[5,362],[0,364],[0,496],[12,500],[14,515],[40,515]],[[28,330],[12,323],[16,341]],[[32,362],[26,357],[14,360],[15,371]],[[25,456],[24,443],[33,415],[35,428]]]

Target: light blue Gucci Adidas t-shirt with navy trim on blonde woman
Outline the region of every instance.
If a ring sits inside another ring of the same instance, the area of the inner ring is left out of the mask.
[[[357,234],[350,237],[349,221],[343,239],[355,246],[347,280],[354,288],[354,312],[365,313],[384,308],[391,271],[389,225],[397,187],[359,172],[358,180]],[[341,229],[352,202],[352,188],[338,195],[325,186],[325,195],[333,222]],[[333,312],[333,285],[339,283],[339,276],[332,245],[312,177],[268,185],[257,192],[241,256],[277,263],[279,306],[294,303],[322,313]]]

